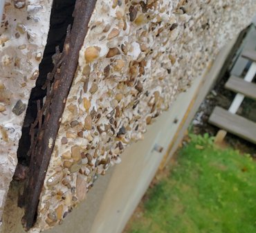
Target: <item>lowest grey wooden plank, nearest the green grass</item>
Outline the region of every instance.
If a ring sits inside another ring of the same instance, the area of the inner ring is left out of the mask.
[[[256,144],[256,123],[216,106],[209,122]]]

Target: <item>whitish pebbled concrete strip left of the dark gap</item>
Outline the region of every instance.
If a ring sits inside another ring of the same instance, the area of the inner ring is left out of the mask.
[[[17,165],[30,91],[39,75],[51,0],[6,1],[0,28],[0,220]]]

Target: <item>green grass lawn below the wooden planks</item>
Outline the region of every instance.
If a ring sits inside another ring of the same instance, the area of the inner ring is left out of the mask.
[[[190,136],[170,174],[149,189],[129,233],[256,233],[256,162]]]

